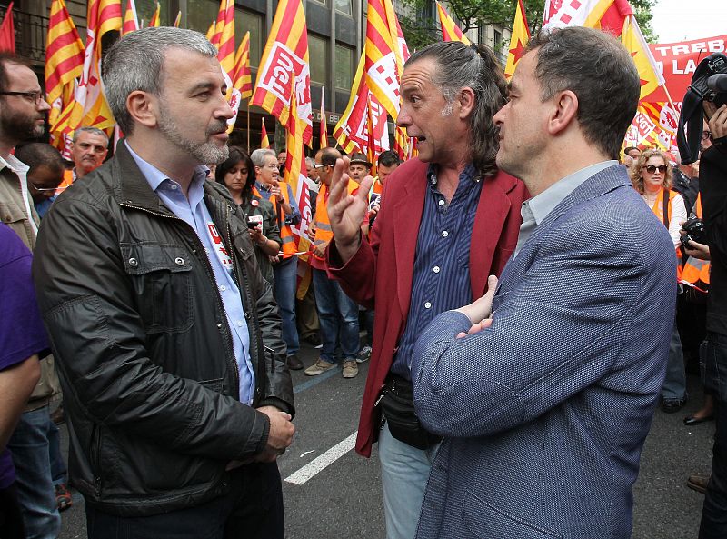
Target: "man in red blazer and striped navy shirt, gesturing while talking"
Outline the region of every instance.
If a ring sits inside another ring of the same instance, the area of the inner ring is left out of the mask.
[[[386,179],[371,240],[363,241],[359,230],[370,178],[357,196],[348,196],[347,164],[339,162],[328,210],[334,232],[329,273],[376,310],[356,450],[369,456],[378,439],[388,539],[414,536],[440,439],[414,415],[413,344],[436,314],[480,297],[487,274],[502,271],[526,197],[523,184],[494,164],[492,117],[507,90],[488,48],[460,42],[424,47],[404,65],[401,94],[398,124],[417,139],[419,156]],[[382,417],[390,394],[405,409],[394,415],[389,407]],[[412,418],[412,428],[403,428]]]

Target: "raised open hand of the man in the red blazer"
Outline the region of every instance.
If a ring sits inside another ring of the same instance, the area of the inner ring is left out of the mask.
[[[366,176],[356,195],[349,195],[349,177],[344,172],[348,170],[348,165],[348,157],[336,161],[328,195],[328,219],[334,231],[336,248],[344,263],[354,256],[361,244],[361,224],[368,210],[366,199],[373,185],[373,177]]]

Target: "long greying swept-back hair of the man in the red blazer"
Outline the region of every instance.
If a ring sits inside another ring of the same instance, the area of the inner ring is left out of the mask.
[[[407,65],[431,58],[437,63],[432,83],[446,100],[451,112],[456,95],[465,87],[474,93],[475,105],[470,115],[470,145],[472,161],[481,175],[497,172],[495,156],[500,146],[499,129],[493,123],[493,115],[507,101],[507,83],[503,70],[493,52],[485,45],[464,45],[459,41],[443,41],[427,45],[415,52]]]

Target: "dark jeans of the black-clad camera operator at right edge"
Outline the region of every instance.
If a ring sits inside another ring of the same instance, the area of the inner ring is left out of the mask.
[[[716,403],[717,430],[712,448],[712,477],[704,494],[699,539],[727,537],[727,335],[707,334],[705,386]]]

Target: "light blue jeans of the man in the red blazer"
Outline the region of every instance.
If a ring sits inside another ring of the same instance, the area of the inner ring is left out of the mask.
[[[424,489],[439,444],[417,449],[392,436],[384,423],[379,434],[386,539],[413,539],[422,512]]]

